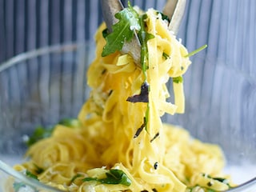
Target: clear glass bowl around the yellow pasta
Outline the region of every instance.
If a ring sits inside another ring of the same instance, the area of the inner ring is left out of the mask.
[[[35,127],[77,117],[90,92],[86,69],[93,58],[94,44],[88,42],[33,50],[0,66],[0,191],[6,191],[7,178],[24,191],[59,191],[12,166],[23,161],[24,139]],[[218,59],[191,59],[184,77],[186,112],[163,120],[222,146],[225,171],[239,185],[229,191],[255,191],[256,80]]]

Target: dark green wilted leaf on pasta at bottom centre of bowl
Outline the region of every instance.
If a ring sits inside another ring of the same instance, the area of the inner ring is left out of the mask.
[[[122,184],[124,186],[130,186],[130,178],[122,171],[118,169],[111,169],[106,172],[106,178],[84,178],[83,182],[96,181],[104,184]]]

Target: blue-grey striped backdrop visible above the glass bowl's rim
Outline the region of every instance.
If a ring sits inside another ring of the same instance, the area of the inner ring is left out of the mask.
[[[99,0],[0,0],[0,62],[34,48],[93,38],[102,22]],[[126,1],[125,1],[126,2]],[[134,0],[162,10],[165,0]],[[255,77],[256,1],[187,0],[178,37],[188,49]]]

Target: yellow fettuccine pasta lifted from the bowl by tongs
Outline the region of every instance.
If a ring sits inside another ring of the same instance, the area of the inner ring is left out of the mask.
[[[80,126],[55,126],[50,138],[30,146],[26,154],[30,161],[16,170],[29,170],[40,182],[66,191],[228,189],[213,179],[224,177],[222,150],[162,122],[163,114],[185,110],[183,82],[173,81],[174,94],[166,83],[182,78],[190,59],[162,15],[153,9],[146,14],[146,30],[154,35],[147,42],[148,102],[127,101],[141,93],[145,74],[129,54],[117,51],[102,57],[103,23],[95,35],[96,57],[87,73],[91,92],[78,114]],[[167,102],[169,97],[174,103]],[[43,170],[39,174],[38,167]],[[130,184],[101,182],[109,170],[122,170]]]

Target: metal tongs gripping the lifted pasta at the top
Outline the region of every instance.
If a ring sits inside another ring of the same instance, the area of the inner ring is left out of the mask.
[[[118,22],[118,19],[114,17],[119,11],[124,9],[122,2],[120,0],[101,0],[102,4],[102,14],[104,21],[106,22],[106,27],[110,32],[112,31],[112,26]],[[166,14],[170,18],[169,29],[177,34],[178,28],[182,21],[182,17],[186,7],[186,0],[167,0],[162,13]],[[134,33],[134,38],[130,42],[124,43],[122,46],[122,54],[130,54],[134,58],[134,62],[139,65],[140,63],[140,53],[141,45],[138,40],[138,36]]]

